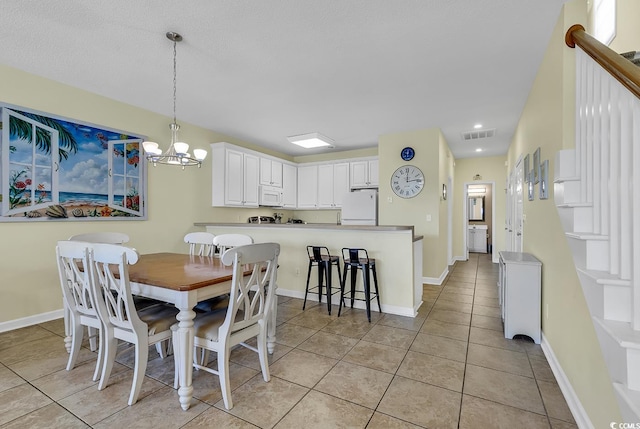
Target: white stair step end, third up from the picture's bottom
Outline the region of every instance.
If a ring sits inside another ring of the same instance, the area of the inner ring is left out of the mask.
[[[592,316],[631,322],[631,281],[604,271],[577,268]]]

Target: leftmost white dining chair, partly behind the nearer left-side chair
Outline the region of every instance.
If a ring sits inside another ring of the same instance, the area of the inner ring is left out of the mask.
[[[56,246],[56,260],[62,297],[65,308],[68,310],[68,335],[71,337],[67,371],[73,369],[78,359],[86,326],[89,332],[91,351],[98,350],[96,369],[93,373],[93,381],[96,381],[102,369],[104,347],[102,344],[102,323],[98,318],[91,292],[91,277],[89,270],[84,269],[89,266],[88,246],[90,243],[81,241],[59,241]],[[97,345],[96,338],[98,339]]]

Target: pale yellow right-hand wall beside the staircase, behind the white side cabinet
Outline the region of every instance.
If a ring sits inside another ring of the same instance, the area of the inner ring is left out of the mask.
[[[511,147],[509,169],[518,157],[541,150],[553,181],[556,152],[574,147],[575,51],[564,44],[566,30],[586,22],[586,2],[565,4],[538,70]],[[524,201],[524,251],[542,261],[542,329],[594,427],[621,421],[611,380],[589,316],[553,200]]]

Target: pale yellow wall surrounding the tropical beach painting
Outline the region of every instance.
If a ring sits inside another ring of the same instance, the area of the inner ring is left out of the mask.
[[[0,65],[1,101],[147,136],[169,138],[170,118]],[[181,123],[193,147],[237,139]],[[263,152],[266,152],[262,150]],[[281,156],[287,158],[286,156]],[[121,231],[141,252],[184,251],[182,237],[197,221],[246,221],[248,211],[211,207],[211,160],[201,169],[149,168],[148,221],[0,223],[0,323],[62,308],[55,242],[87,231]],[[264,210],[267,213],[273,210]],[[253,213],[252,213],[253,214]]]

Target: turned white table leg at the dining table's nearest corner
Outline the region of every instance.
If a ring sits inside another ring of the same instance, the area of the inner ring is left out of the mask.
[[[178,363],[178,381],[180,395],[180,406],[183,410],[188,410],[193,397],[193,318],[196,313],[191,308],[181,308],[176,316],[178,319],[178,347],[180,347],[180,362]]]

